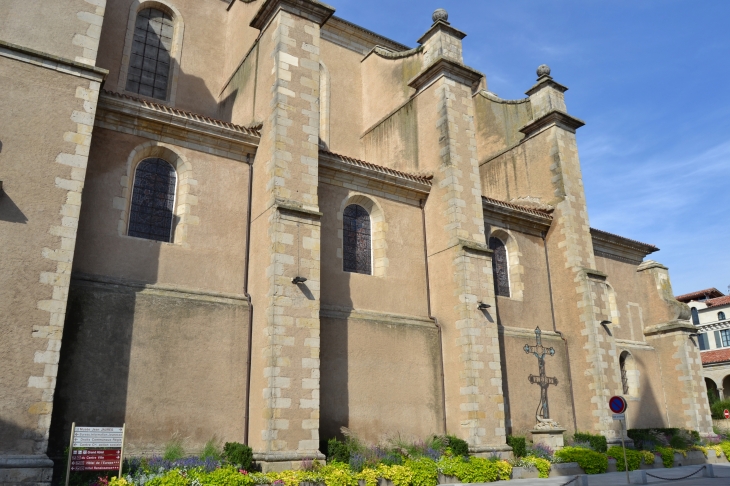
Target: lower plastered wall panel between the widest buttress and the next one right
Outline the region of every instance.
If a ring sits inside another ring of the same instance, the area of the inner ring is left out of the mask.
[[[430,319],[323,306],[321,321],[323,440],[343,426],[371,443],[444,432]]]

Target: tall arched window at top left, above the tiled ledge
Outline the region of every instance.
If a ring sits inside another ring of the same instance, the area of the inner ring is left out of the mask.
[[[156,8],[139,11],[129,57],[127,91],[167,99],[173,33],[172,17],[167,13]]]

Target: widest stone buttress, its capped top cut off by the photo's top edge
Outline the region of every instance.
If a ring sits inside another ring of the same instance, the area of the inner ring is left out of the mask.
[[[332,12],[314,1],[269,0],[251,23],[261,30],[258,115],[264,125],[253,178],[249,443],[265,469],[323,457],[319,29]],[[294,277],[306,281],[294,283]]]

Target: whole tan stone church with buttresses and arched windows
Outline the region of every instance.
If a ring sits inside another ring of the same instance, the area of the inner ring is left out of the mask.
[[[0,484],[72,422],[266,467],[342,426],[616,441],[612,395],[711,432],[657,248],[590,227],[557,76],[501,99],[445,11],[416,47],[334,12],[0,2]]]

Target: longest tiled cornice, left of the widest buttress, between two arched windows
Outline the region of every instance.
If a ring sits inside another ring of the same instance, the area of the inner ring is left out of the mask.
[[[259,145],[261,133],[232,123],[103,91],[95,126],[152,140],[172,140],[194,150],[244,160]]]

